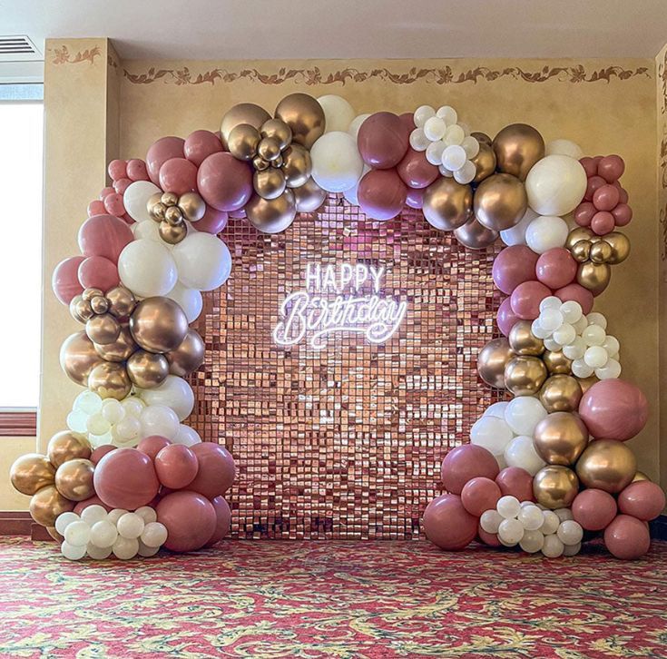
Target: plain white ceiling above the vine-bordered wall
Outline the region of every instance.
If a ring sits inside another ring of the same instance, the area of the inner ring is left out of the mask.
[[[652,57],[665,0],[0,0],[0,35],[123,58]]]

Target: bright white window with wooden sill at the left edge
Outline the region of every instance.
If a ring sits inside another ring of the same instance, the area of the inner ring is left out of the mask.
[[[0,434],[34,434],[42,325],[41,84],[0,84]]]

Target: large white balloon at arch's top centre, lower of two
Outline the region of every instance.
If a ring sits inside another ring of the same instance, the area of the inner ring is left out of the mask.
[[[310,148],[312,177],[328,192],[345,192],[361,178],[364,161],[357,141],[349,133],[325,133]]]

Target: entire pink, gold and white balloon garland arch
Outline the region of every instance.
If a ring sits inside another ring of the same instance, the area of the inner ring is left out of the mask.
[[[603,531],[614,556],[641,556],[645,521],[664,495],[623,442],[645,424],[646,399],[618,379],[619,342],[592,312],[611,266],[629,253],[615,231],[632,219],[623,169],[619,156],[545,145],[523,123],[492,140],[449,105],[356,115],[339,96],[304,93],[273,116],[240,103],[219,133],[163,137],[145,161],[114,160],[113,186],[79,231],[82,255],[53,277],[84,325],[65,339],[61,365],[86,389],[47,455],[15,462],[13,485],[74,560],[187,552],[225,536],[233,458],[181,423],[194,405],[184,378],[203,361],[190,327],[201,291],[231,274],[217,234],[230,218],[285,231],[342,193],[372,220],[407,204],[469,249],[506,245],[493,268],[508,296],[497,316],[503,336],[477,368],[515,398],[486,409],[471,443],[445,457],[447,494],[427,506],[427,536],[446,549],[479,536],[572,556],[584,531]]]

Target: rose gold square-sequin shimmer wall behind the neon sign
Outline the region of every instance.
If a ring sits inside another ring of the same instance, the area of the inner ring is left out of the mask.
[[[466,250],[420,211],[365,221],[334,196],[284,233],[231,220],[221,237],[232,276],[198,321],[191,422],[236,459],[232,535],[417,538],[447,448],[497,398],[475,368],[500,302],[495,251]],[[321,350],[277,345],[280,303],[304,289],[309,262],[384,266],[380,294],[407,301],[397,332],[380,345],[339,332]]]

